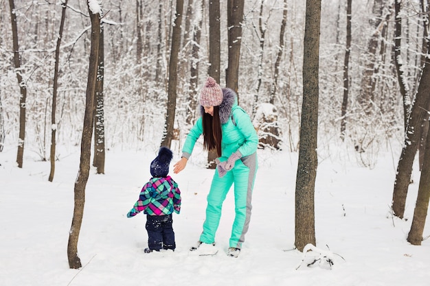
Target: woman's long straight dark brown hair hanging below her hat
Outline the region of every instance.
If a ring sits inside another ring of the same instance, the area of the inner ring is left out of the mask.
[[[218,157],[221,156],[221,141],[223,134],[221,132],[221,121],[219,115],[219,106],[214,106],[214,116],[203,113],[203,149],[216,150]]]

